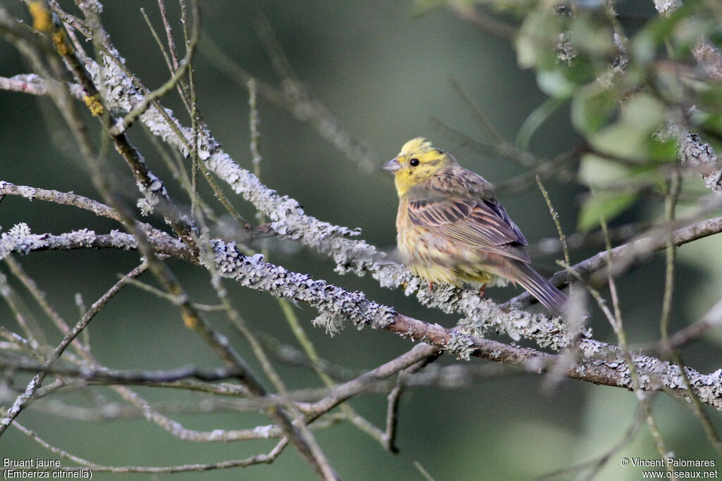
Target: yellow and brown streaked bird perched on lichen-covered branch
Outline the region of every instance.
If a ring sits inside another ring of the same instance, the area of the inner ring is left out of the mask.
[[[567,296],[531,267],[529,242],[495,198],[495,187],[424,137],[412,138],[381,169],[393,173],[401,260],[429,282],[456,287],[521,284],[553,314]]]

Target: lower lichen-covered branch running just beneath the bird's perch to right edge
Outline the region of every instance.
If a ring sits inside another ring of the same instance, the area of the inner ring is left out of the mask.
[[[74,242],[77,234],[32,234],[27,226],[15,226],[0,238],[0,258],[9,252],[29,253],[34,250],[51,248],[67,249],[94,247],[102,245],[95,241],[95,233],[84,232],[82,243]],[[128,236],[128,234],[121,234]],[[152,241],[154,237],[149,237]],[[128,240],[128,239],[126,239]],[[178,241],[178,244],[180,242]],[[125,242],[121,248],[133,248]],[[103,247],[111,247],[103,245]],[[159,246],[159,249],[163,245]],[[175,250],[171,250],[173,255]],[[235,244],[219,239],[212,241],[214,268],[242,286],[264,291],[274,296],[303,302],[318,309],[317,322],[329,330],[338,330],[340,322],[357,327],[370,326],[396,332],[412,340],[422,340],[452,355],[469,358],[475,356],[505,363],[511,366],[523,366],[534,372],[546,372],[557,362],[558,356],[531,348],[519,348],[498,341],[464,334],[456,329],[429,324],[419,319],[399,314],[393,308],[370,301],[361,292],[349,292],[326,281],[313,279],[310,275],[295,273],[281,266],[264,262],[262,255],[246,256],[238,251]],[[194,262],[205,261],[196,258]],[[486,302],[486,301],[484,301]],[[623,360],[618,348],[599,341],[583,337],[579,343],[581,358],[570,367],[565,375],[570,379],[631,389],[630,368]],[[640,387],[656,390],[663,387],[687,397],[679,367],[666,361],[649,356],[632,356],[635,362]],[[722,369],[712,374],[700,374],[686,368],[695,394],[700,401],[722,409]]]

